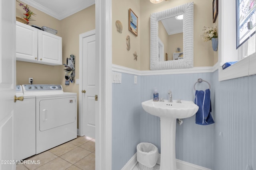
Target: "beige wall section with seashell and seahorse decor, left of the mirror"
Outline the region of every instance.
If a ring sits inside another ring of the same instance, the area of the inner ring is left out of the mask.
[[[138,37],[128,30],[129,8],[138,16]],[[121,21],[122,33],[116,31],[116,20]],[[140,37],[144,31],[140,24],[140,1],[139,0],[112,0],[112,63],[140,70],[141,53]],[[126,37],[130,36],[130,51],[126,49]],[[136,51],[138,57],[134,60],[133,54]]]

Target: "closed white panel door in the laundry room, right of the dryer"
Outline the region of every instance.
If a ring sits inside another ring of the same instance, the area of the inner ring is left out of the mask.
[[[80,35],[82,41],[82,51],[80,51],[80,72],[82,72],[82,80],[80,80],[80,111],[82,111],[82,135],[95,139],[95,95],[96,92],[96,46],[95,46],[95,30]],[[85,90],[85,91],[84,91]],[[80,114],[80,115],[81,115]],[[81,126],[80,126],[81,127]]]

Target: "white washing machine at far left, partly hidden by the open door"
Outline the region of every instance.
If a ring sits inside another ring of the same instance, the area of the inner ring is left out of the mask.
[[[15,159],[22,160],[36,154],[36,96],[24,96],[22,86],[16,85],[17,101],[14,111]]]

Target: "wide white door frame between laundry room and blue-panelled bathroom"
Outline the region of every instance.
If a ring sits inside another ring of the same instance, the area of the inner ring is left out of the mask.
[[[100,94],[96,102],[95,169],[112,169],[112,0],[95,0],[96,79]],[[98,82],[97,82],[98,81]]]

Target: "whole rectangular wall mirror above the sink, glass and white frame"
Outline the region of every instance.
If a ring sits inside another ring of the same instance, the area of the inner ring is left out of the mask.
[[[178,23],[177,18],[182,15],[183,20]],[[178,25],[180,25],[180,29],[178,29]],[[193,67],[193,29],[193,2],[151,14],[150,70]]]

